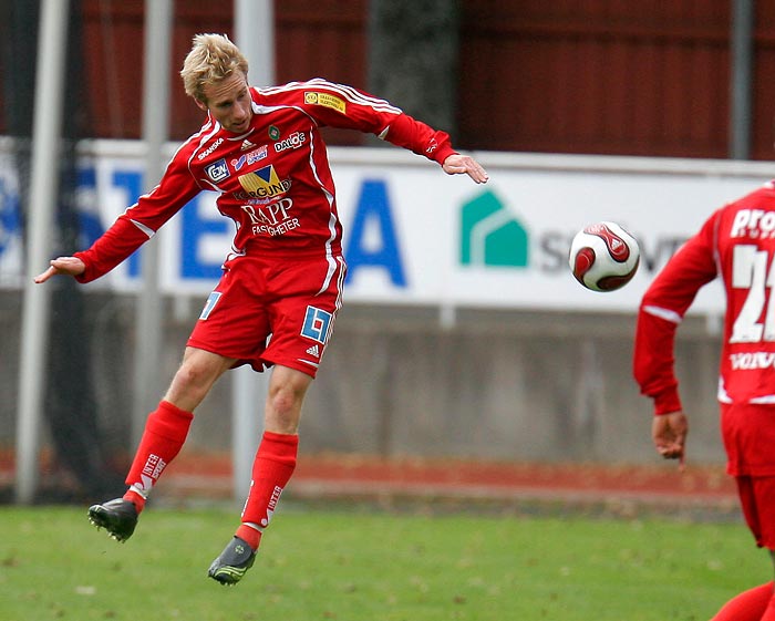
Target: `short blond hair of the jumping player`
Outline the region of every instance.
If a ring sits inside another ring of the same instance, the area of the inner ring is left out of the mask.
[[[187,95],[207,103],[205,86],[220,82],[235,71],[247,76],[248,60],[226,34],[197,34],[183,62],[180,77]]]

